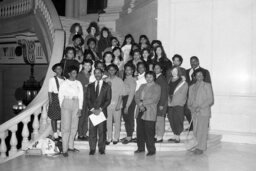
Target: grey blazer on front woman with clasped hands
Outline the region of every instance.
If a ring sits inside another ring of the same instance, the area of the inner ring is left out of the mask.
[[[154,83],[144,93],[144,97],[141,99],[141,93],[146,87],[146,84],[140,86],[139,90],[135,94],[135,102],[137,104],[135,118],[139,114],[140,100],[143,100],[143,105],[146,107],[146,111],[143,113],[141,119],[146,121],[156,121],[157,117],[157,104],[161,96],[161,87]]]

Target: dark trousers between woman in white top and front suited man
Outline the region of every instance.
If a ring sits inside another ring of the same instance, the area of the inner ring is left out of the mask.
[[[88,132],[88,109],[83,109],[78,122],[78,136],[86,137]]]

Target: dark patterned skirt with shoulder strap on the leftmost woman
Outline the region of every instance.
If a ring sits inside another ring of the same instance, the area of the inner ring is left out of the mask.
[[[61,119],[61,109],[58,94],[52,93],[52,103],[49,104],[48,117],[52,120]]]

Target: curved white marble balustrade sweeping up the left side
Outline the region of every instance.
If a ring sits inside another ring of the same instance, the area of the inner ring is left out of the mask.
[[[23,155],[24,150],[33,142],[48,136],[51,132],[47,121],[48,80],[53,76],[51,67],[62,58],[65,37],[59,16],[50,0],[16,0],[0,3],[0,38],[23,32],[36,33],[50,62],[45,81],[36,98],[19,115],[0,125],[0,163]],[[32,115],[33,131],[29,132],[28,123]],[[16,132],[20,123],[23,124],[22,146],[21,149],[17,149]],[[10,149],[7,149],[5,142],[8,135],[11,135]]]

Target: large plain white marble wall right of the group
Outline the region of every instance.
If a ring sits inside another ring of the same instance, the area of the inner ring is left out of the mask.
[[[211,129],[256,135],[256,1],[158,0],[158,39],[211,72]],[[256,136],[255,136],[256,137]]]

